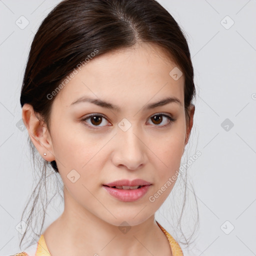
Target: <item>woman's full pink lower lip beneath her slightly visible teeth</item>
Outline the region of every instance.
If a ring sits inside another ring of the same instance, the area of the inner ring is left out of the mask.
[[[137,189],[118,189],[103,185],[110,195],[124,202],[131,202],[141,198],[146,194],[149,186],[145,185]]]

